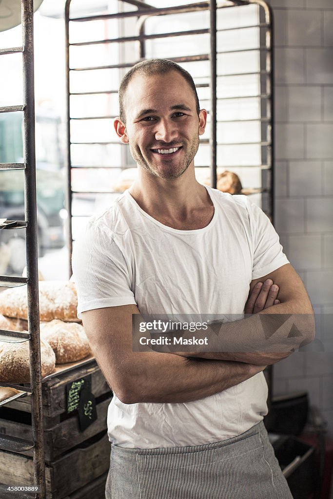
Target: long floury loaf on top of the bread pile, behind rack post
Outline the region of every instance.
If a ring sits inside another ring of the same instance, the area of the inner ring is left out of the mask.
[[[39,282],[39,317],[42,321],[61,319],[78,321],[74,282]],[[0,293],[0,312],[8,317],[27,319],[26,286],[5,289]]]

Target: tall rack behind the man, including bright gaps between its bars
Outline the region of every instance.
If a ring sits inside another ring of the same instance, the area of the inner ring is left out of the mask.
[[[215,187],[217,169],[241,166],[253,200],[274,217],[270,6],[263,0],[169,7],[149,2],[159,5],[155,0],[109,0],[107,12],[77,15],[75,0],[66,1],[69,255],[82,219],[118,195],[115,176],[134,166],[126,146],[111,135],[112,118],[118,113],[121,77],[151,57],[173,59],[188,69],[208,109],[210,136],[200,140],[196,170],[209,167]]]

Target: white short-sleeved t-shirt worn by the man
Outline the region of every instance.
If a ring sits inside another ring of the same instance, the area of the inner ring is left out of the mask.
[[[161,224],[128,191],[90,219],[73,252],[78,313],[137,304],[141,313],[240,318],[251,280],[288,259],[260,208],[246,196],[206,188],[214,216],[203,229]],[[123,404],[114,395],[108,435],[114,445],[130,448],[217,442],[259,423],[267,413],[266,400],[263,373],[193,402]]]

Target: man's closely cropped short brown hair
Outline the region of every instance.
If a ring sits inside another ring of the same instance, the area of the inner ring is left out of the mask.
[[[199,115],[200,112],[199,98],[197,94],[197,89],[195,87],[195,83],[190,73],[186,71],[186,69],[182,68],[179,64],[169,59],[147,59],[145,61],[141,61],[135,64],[121,80],[118,98],[119,98],[119,117],[123,123],[125,123],[124,97],[128,84],[132,79],[132,77],[134,76],[134,74],[141,73],[150,76],[152,74],[164,74],[170,71],[177,71],[178,73],[180,73],[185,78],[187,83],[190,85],[195,97],[196,111]]]

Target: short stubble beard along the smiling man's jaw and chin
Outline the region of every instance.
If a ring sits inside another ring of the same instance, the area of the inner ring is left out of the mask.
[[[144,170],[147,170],[151,174],[153,174],[155,177],[159,177],[160,179],[177,179],[183,173],[188,169],[192,161],[194,160],[195,155],[197,154],[199,148],[199,137],[196,137],[195,140],[191,143],[191,147],[189,152],[185,155],[183,163],[177,168],[175,171],[174,168],[168,169],[166,168],[155,168],[153,162],[152,164],[149,164],[148,161],[143,157],[141,154],[141,151],[138,149],[136,150],[134,147],[130,145],[130,151],[131,155],[134,159],[134,161],[140,165]],[[156,154],[156,153],[151,153],[151,154]],[[172,159],[169,160],[170,162],[173,161]]]

